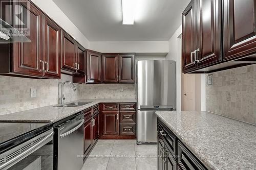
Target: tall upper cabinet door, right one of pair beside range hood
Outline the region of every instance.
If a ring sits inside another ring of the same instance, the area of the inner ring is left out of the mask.
[[[61,29],[44,16],[44,61],[45,74],[50,78],[60,78]]]

